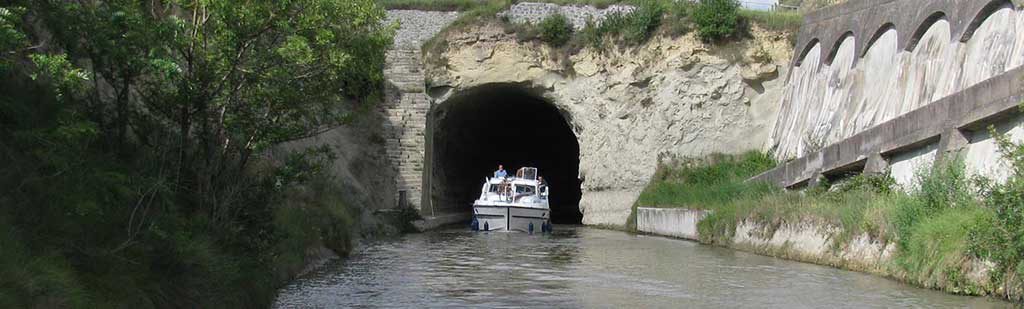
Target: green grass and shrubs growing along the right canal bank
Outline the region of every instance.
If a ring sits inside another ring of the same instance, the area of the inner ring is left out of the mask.
[[[993,136],[997,135],[993,132]],[[956,294],[1001,293],[1001,297],[1021,301],[1024,145],[1007,137],[998,140],[1000,152],[1010,159],[1014,172],[1006,182],[970,177],[961,161],[950,161],[920,172],[909,192],[898,189],[889,177],[865,175],[804,191],[785,191],[744,181],[771,167],[766,156],[715,156],[665,163],[636,207],[710,210],[698,225],[701,241],[723,246],[732,244],[737,224],[744,221],[769,229],[807,221],[837,227],[830,235],[834,250],[841,250],[856,235],[867,234],[876,240],[896,241],[897,251],[891,265],[862,270]],[[634,218],[630,220],[632,223]],[[771,235],[774,231],[766,232]],[[968,267],[979,261],[995,265],[987,282],[968,278]]]

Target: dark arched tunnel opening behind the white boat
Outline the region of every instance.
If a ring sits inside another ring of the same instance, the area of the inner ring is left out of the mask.
[[[564,113],[516,85],[460,92],[428,116],[429,198],[435,213],[472,212],[484,177],[536,167],[550,188],[551,220],[579,224],[580,144]]]

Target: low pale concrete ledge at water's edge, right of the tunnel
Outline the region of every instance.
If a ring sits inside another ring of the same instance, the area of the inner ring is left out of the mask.
[[[663,236],[699,240],[697,223],[707,211],[690,209],[638,208],[637,230]]]

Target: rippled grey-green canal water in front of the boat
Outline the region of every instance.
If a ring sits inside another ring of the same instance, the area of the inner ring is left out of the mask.
[[[276,308],[1002,308],[889,279],[589,227],[449,229],[366,244],[282,289]]]

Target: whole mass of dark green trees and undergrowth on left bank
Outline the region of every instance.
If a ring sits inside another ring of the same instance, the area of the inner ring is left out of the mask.
[[[372,0],[5,2],[0,307],[260,307],[307,248],[346,252],[357,214],[332,153],[266,154],[380,97],[384,16]]]

